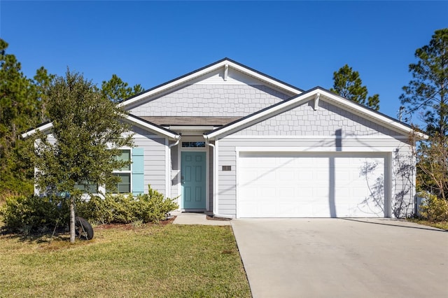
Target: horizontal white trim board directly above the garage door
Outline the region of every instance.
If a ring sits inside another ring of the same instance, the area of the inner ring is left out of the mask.
[[[235,147],[235,152],[393,152],[396,147]]]

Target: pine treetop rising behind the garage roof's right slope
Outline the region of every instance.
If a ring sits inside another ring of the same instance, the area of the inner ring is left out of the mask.
[[[379,94],[374,94],[372,97],[367,98],[367,87],[363,86],[363,81],[360,79],[358,71],[353,71],[349,65],[345,64],[339,71],[335,71],[333,80],[331,92],[356,101],[375,111],[379,110]]]

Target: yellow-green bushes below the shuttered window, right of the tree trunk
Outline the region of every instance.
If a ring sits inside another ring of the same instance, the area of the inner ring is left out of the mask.
[[[104,199],[92,197],[90,201],[76,206],[78,213],[90,222],[131,223],[159,222],[179,206],[174,199],[163,197],[148,185],[148,194],[106,194]]]

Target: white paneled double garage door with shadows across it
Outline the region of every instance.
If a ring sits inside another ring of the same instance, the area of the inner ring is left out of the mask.
[[[384,217],[384,164],[374,153],[240,152],[237,217]]]

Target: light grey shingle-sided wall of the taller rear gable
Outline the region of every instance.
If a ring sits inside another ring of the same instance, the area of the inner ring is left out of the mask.
[[[244,117],[289,98],[264,85],[187,85],[130,109],[142,116]]]

